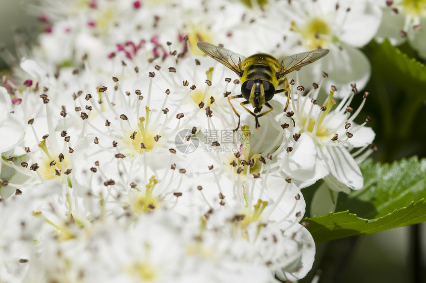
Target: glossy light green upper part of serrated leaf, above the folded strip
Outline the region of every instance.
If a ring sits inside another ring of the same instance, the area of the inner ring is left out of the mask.
[[[426,159],[416,156],[390,164],[373,164],[369,159],[360,165],[364,188],[350,194],[340,193],[336,211],[374,219],[426,198]]]

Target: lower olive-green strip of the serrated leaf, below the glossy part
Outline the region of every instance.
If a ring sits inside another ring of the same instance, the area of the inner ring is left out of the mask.
[[[373,220],[359,218],[349,211],[342,211],[306,218],[304,221],[309,223],[307,229],[318,243],[424,222],[426,221],[426,201],[421,199],[416,203],[412,202],[407,207],[396,209],[392,213]]]

